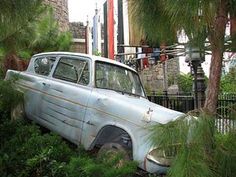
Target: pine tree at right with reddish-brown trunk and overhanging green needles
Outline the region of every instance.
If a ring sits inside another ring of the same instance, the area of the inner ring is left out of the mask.
[[[148,39],[168,41],[184,30],[191,45],[202,48],[206,37],[211,44],[211,66],[205,110],[216,112],[225,49],[225,29],[231,23],[235,43],[235,0],[129,0],[133,19]],[[173,41],[173,40],[170,40]],[[233,50],[233,47],[231,48]]]

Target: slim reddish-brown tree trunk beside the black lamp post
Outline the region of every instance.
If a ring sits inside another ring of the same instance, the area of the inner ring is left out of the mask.
[[[217,9],[216,18],[212,22],[209,40],[212,47],[210,75],[204,109],[210,114],[216,113],[222,60],[224,52],[224,36],[227,24],[227,0],[221,0]]]

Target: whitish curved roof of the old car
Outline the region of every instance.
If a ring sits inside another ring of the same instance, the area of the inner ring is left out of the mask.
[[[44,53],[38,53],[35,54],[33,57],[38,57],[41,55],[70,55],[70,56],[82,56],[82,57],[88,57],[93,61],[102,61],[102,62],[106,62],[106,63],[111,63],[111,64],[115,64],[115,65],[119,65],[122,66],[124,68],[130,69],[134,72],[136,72],[133,68],[120,63],[118,61],[115,61],[113,59],[109,59],[109,58],[104,58],[104,57],[100,57],[100,56],[95,56],[95,55],[89,55],[89,54],[84,54],[84,53],[76,53],[76,52],[44,52]]]

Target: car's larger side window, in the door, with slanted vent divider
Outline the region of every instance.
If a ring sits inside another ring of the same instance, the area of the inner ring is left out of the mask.
[[[88,85],[88,61],[81,58],[62,57],[58,62],[53,77],[73,83]]]

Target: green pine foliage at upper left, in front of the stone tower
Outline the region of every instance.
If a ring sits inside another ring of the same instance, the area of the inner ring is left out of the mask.
[[[9,7],[9,11],[0,12],[0,27],[4,26],[1,28],[4,30],[0,31],[1,58],[16,54],[20,58],[30,59],[39,52],[70,50],[71,33],[59,32],[52,8],[41,2],[1,1],[1,7]]]

